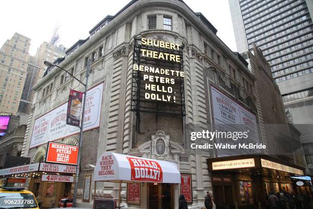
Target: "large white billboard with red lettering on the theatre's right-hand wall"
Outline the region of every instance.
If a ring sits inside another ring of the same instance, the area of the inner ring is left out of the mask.
[[[218,143],[225,142],[229,144],[238,143],[260,143],[258,123],[256,116],[248,109],[244,108],[237,101],[228,97],[215,87],[211,86],[212,104],[214,114],[214,124],[217,131],[225,132],[249,132],[247,139],[225,140],[217,139]],[[253,154],[255,149],[218,149],[218,157]]]

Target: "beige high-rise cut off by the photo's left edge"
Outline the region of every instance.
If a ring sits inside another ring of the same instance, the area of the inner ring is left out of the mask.
[[[31,39],[15,33],[0,49],[0,112],[16,114],[23,91]]]

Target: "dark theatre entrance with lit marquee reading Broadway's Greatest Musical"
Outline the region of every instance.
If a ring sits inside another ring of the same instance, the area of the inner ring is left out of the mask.
[[[266,155],[208,159],[216,208],[266,208],[271,191],[298,194],[306,190],[291,176],[303,176],[303,168]]]

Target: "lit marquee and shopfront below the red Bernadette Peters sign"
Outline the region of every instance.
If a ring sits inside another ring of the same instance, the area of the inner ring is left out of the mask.
[[[38,162],[0,170],[2,185],[25,187],[43,207],[58,206],[59,199],[71,195],[74,165]]]

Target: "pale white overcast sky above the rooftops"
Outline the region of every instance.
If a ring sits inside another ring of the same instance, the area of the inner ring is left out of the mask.
[[[43,41],[50,41],[54,27],[59,25],[59,44],[71,47],[78,39],[85,39],[106,15],[114,15],[130,0],[10,0],[1,1],[0,46],[15,32],[31,38],[31,55]],[[110,4],[108,4],[110,3]],[[202,12],[218,30],[217,35],[233,51],[235,36],[228,0],[185,0],[194,11]]]

